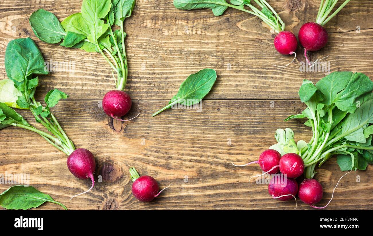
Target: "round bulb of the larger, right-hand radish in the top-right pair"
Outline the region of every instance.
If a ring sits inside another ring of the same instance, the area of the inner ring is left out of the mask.
[[[299,42],[307,51],[317,51],[325,47],[328,35],[326,29],[315,22],[307,22],[299,29]]]

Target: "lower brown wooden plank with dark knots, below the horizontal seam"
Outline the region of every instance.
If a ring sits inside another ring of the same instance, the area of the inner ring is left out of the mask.
[[[115,124],[99,108],[99,101],[61,101],[53,113],[76,147],[93,152],[102,183],[69,202],[90,187],[69,173],[66,155],[30,131],[15,127],[0,130],[0,173],[29,173],[30,184],[51,194],[69,209],[293,209],[294,201],[271,199],[266,184],[248,183],[258,166],[234,167],[232,162],[253,161],[275,143],[277,128],[289,127],[295,139],[308,140],[311,131],[301,120],[283,122],[304,109],[298,100],[204,100],[201,112],[168,110],[151,114],[167,100],[141,100],[141,115]],[[271,107],[274,105],[274,107]],[[19,111],[35,124],[28,111]],[[137,114],[134,105],[128,118]],[[38,126],[38,125],[36,125]],[[39,126],[38,126],[39,127]],[[231,145],[228,141],[231,140]],[[137,167],[166,189],[152,203],[131,195],[128,168]],[[326,204],[342,176],[335,159],[316,174],[325,190]],[[373,209],[372,166],[345,176],[328,209]],[[185,182],[186,176],[188,182]],[[357,183],[360,176],[361,183]],[[96,177],[97,180],[97,177]],[[12,184],[0,184],[0,192]],[[60,209],[44,204],[38,209]],[[297,209],[310,209],[298,201]]]

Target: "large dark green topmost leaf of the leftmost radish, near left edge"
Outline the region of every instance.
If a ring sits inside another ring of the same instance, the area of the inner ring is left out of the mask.
[[[22,82],[31,74],[48,74],[44,58],[31,38],[18,38],[8,43],[5,70],[8,78]]]

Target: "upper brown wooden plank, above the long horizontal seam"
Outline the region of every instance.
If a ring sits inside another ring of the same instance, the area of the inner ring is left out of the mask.
[[[319,1],[269,1],[285,21],[286,29],[316,17]],[[98,53],[67,49],[38,40],[28,23],[32,12],[50,10],[62,20],[80,11],[81,1],[4,0],[0,4],[0,79],[6,78],[4,52],[18,37],[32,37],[46,60],[75,63],[75,73],[52,72],[41,76],[38,99],[52,87],[67,91],[72,100],[96,100],[114,88],[112,72]],[[373,2],[354,0],[327,25],[329,43],[311,58],[330,62],[331,71],[351,70],[373,76]],[[185,78],[202,68],[217,70],[218,79],[206,99],[298,99],[305,78],[317,80],[325,72],[300,72],[299,61],[287,68],[291,56],[273,48],[269,28],[254,16],[228,9],[222,16],[211,10],[178,10],[172,0],[139,0],[133,16],[126,20],[129,82],[133,99],[170,99]],[[187,28],[185,28],[187,27]],[[357,32],[357,27],[360,32]],[[300,60],[301,49],[298,50]],[[286,93],[284,93],[286,91]]]

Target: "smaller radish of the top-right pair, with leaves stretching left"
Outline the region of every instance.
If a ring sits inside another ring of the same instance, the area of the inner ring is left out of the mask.
[[[173,4],[177,9],[183,10],[203,8],[211,9],[215,16],[222,15],[225,12],[225,10],[228,9],[228,7],[257,16],[278,34],[276,35],[274,40],[275,49],[282,55],[294,54],[294,59],[288,64],[290,65],[297,56],[297,54],[295,53],[295,50],[297,50],[298,46],[297,38],[292,32],[284,31],[285,24],[281,20],[280,16],[276,13],[276,11],[267,3],[266,0],[253,1],[255,1],[255,3],[261,8],[261,10],[259,10],[253,4],[251,4],[252,1],[250,0],[231,0],[231,4],[227,3],[225,0],[174,0]],[[249,7],[251,10],[245,9],[245,6]]]

